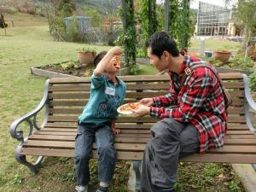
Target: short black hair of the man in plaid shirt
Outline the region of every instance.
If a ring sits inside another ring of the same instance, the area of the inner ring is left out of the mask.
[[[179,55],[176,42],[166,32],[155,32],[150,38],[148,38],[146,47],[150,47],[151,54],[157,55],[159,58],[165,50],[172,56]]]

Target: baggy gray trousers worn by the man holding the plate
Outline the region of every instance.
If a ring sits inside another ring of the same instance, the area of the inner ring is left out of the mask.
[[[162,119],[152,126],[151,134],[141,167],[142,192],[172,188],[177,182],[177,160],[200,151],[199,131],[194,125]]]

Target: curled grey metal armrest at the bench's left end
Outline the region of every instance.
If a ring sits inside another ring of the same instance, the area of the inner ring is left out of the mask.
[[[38,107],[35,108],[34,110],[32,110],[31,112],[26,113],[26,115],[23,115],[19,119],[16,119],[10,125],[9,132],[10,132],[11,137],[14,137],[18,141],[20,141],[21,143],[24,143],[23,131],[18,130],[18,126],[20,125],[20,123],[22,123],[24,121],[26,121],[30,126],[28,137],[32,135],[32,131],[33,131],[34,127],[37,130],[40,130],[40,128],[37,125],[37,114],[38,114],[38,112],[41,111],[42,108],[44,108],[44,106],[45,106],[45,113],[44,113],[43,125],[47,122],[48,115],[49,115],[48,87],[49,87],[49,80],[46,80],[46,82],[44,84],[44,88],[45,88],[44,89],[44,96],[43,96],[41,102],[39,103]],[[31,120],[31,118],[33,118],[33,119]]]

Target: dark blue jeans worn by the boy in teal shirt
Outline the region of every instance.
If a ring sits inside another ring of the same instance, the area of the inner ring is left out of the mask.
[[[92,143],[96,138],[98,150],[98,179],[109,183],[113,178],[116,151],[113,147],[113,131],[111,124],[84,124],[79,125],[75,139],[75,169],[78,185],[87,185],[90,182],[89,160]]]

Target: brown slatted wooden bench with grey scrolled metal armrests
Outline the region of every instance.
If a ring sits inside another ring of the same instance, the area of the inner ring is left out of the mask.
[[[224,147],[207,154],[193,154],[182,159],[190,162],[256,163],[255,118],[256,104],[249,93],[247,76],[241,73],[221,73],[224,86],[233,98],[228,109],[228,131]],[[169,89],[167,75],[124,76],[127,84],[125,102],[144,97],[165,95]],[[10,126],[12,137],[20,141],[16,160],[35,173],[44,156],[73,157],[77,119],[90,96],[90,78],[54,78],[45,83],[44,97],[38,108],[16,119]],[[37,114],[45,108],[44,124],[37,125]],[[253,117],[253,118],[252,118]],[[119,160],[142,160],[143,150],[151,137],[149,129],[158,119],[119,116],[117,126],[121,133],[115,137]],[[27,137],[18,129],[21,122],[29,125]],[[96,158],[96,146],[93,146]],[[36,155],[36,164],[26,161],[26,155]]]

